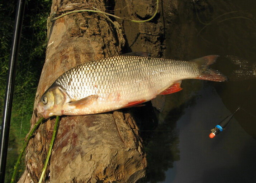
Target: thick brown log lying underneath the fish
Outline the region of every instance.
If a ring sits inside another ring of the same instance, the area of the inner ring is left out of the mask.
[[[53,0],[51,15],[93,7],[105,11],[105,6],[108,5],[103,0]],[[150,9],[148,13],[153,14],[154,11]],[[52,23],[48,30],[46,61],[38,84],[31,126],[41,117],[36,111],[38,100],[58,76],[86,61],[120,54],[124,39],[119,24],[114,23],[105,15],[95,13],[73,13]],[[139,28],[137,34],[152,25],[133,24]],[[128,29],[127,25],[124,27],[129,31],[133,29]],[[160,34],[158,29],[152,31],[152,34]],[[135,42],[139,45],[145,39]],[[147,39],[152,42],[151,38]],[[154,41],[159,45],[160,41]],[[143,49],[137,51],[153,50],[153,55],[161,52],[161,49],[142,45]],[[144,177],[146,155],[134,119],[129,109],[95,115],[62,116],[45,182],[133,183]],[[25,158],[27,167],[19,182],[38,182],[54,121],[54,117],[46,120],[30,140]]]

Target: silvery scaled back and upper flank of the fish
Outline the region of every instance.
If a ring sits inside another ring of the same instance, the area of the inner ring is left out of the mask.
[[[175,69],[179,66],[184,69],[180,71]],[[187,68],[193,69],[189,72]],[[165,88],[172,84],[166,82],[167,80],[177,80],[179,75],[194,78],[199,74],[196,69],[196,65],[188,61],[141,56],[114,56],[76,66],[60,76],[56,83],[66,90],[72,100],[79,100],[93,94],[106,97],[112,90],[119,90],[122,95],[131,97],[134,93],[145,93],[142,90],[149,87],[157,87],[157,90],[159,90],[158,87]],[[163,78],[166,78],[164,82],[162,82]],[[120,84],[123,88],[120,88]]]

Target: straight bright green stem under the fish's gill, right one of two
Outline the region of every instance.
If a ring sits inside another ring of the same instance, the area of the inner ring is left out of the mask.
[[[49,159],[50,159],[51,154],[52,154],[52,147],[53,147],[54,141],[55,141],[55,139],[56,139],[59,121],[60,121],[60,117],[59,117],[59,116],[56,116],[56,121],[55,121],[55,124],[54,124],[53,133],[52,133],[52,140],[51,140],[50,147],[49,147],[49,150],[48,150],[48,154],[47,154],[47,157],[46,157],[46,160],[45,160],[45,163],[44,163],[44,167],[43,167],[43,170],[42,170],[42,175],[41,175],[41,177],[40,177],[38,183],[41,183],[41,182],[42,182],[43,177],[44,177],[44,174],[45,174],[45,172],[46,172],[46,168],[47,168]]]

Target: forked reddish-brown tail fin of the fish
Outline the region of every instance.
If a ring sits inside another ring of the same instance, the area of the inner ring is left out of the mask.
[[[221,74],[219,71],[210,69],[209,65],[212,65],[219,55],[208,55],[198,59],[194,59],[194,61],[198,65],[201,74],[196,79],[203,79],[209,81],[226,81],[227,77]]]

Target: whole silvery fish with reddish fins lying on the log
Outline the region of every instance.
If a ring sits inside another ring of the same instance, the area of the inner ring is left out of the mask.
[[[180,91],[184,79],[226,81],[209,68],[218,57],[184,61],[136,52],[90,61],[59,76],[42,95],[37,111],[44,118],[104,113]]]

